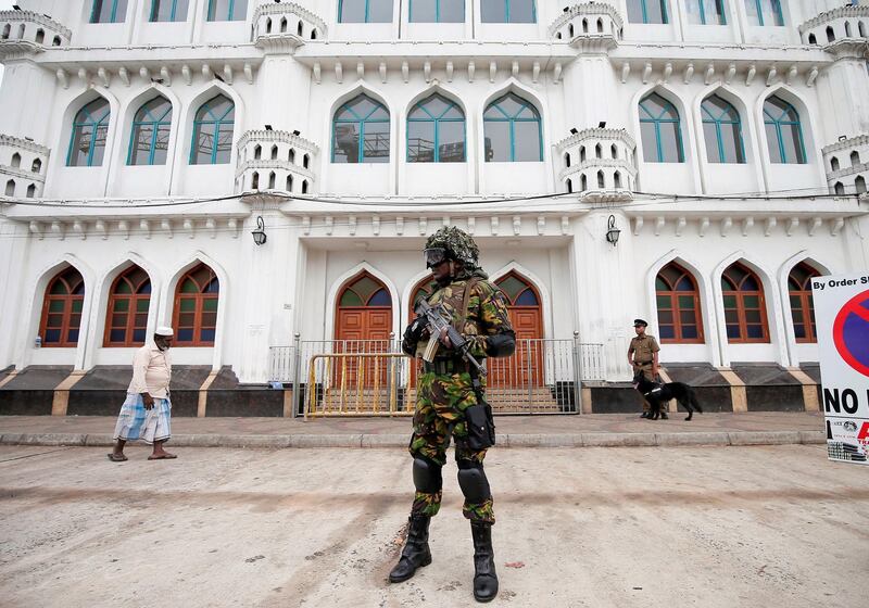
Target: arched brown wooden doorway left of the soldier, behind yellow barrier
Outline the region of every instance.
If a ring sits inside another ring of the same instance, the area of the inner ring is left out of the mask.
[[[338,293],[335,319],[335,353],[386,353],[392,331],[392,297],[386,286],[367,270],[348,280]],[[340,371],[336,369],[336,373]],[[347,382],[356,382],[358,362],[347,360]],[[374,384],[375,364],[363,368],[364,385]],[[378,370],[379,383],[386,383],[386,368]]]

